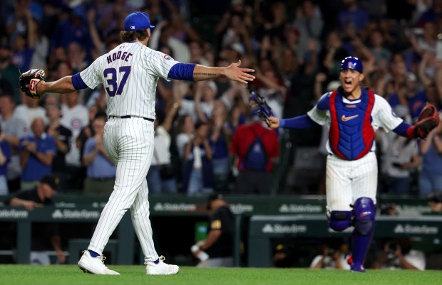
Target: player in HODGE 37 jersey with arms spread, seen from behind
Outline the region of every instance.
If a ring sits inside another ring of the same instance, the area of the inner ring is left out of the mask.
[[[67,93],[103,85],[107,94],[109,120],[104,144],[117,166],[115,186],[101,213],[88,250],[78,262],[81,270],[92,274],[118,274],[103,264],[103,249],[109,237],[130,209],[133,227],[145,254],[147,274],[176,274],[178,266],[158,257],[149,220],[146,174],[153,156],[155,90],[160,77],[166,80],[208,80],[225,76],[247,83],[255,77],[240,68],[241,62],[226,68],[179,63],[169,55],[148,48],[150,18],[134,12],[120,32],[123,43],[97,58],[88,68],[55,82],[46,82],[43,70],[29,70],[20,77],[21,90],[39,99],[45,92]]]

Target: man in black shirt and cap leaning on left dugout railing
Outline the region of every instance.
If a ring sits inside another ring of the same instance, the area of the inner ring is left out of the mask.
[[[22,206],[31,211],[41,206],[53,206],[53,195],[56,195],[58,178],[55,176],[43,176],[38,185],[31,190],[25,190],[14,195],[8,204]],[[49,265],[48,250],[55,250],[58,262],[65,263],[66,256],[61,248],[61,237],[58,225],[53,222],[47,224],[34,224],[31,240],[31,264]]]

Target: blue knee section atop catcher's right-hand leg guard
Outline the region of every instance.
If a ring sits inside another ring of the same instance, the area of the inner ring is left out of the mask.
[[[371,198],[361,197],[354,201],[354,230],[359,235],[371,235],[374,230],[376,209]]]

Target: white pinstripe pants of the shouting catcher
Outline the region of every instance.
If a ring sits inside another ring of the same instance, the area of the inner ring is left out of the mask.
[[[344,161],[327,156],[327,211],[351,211],[357,198],[368,197],[376,204],[378,163],[376,154],[369,152],[356,161]]]

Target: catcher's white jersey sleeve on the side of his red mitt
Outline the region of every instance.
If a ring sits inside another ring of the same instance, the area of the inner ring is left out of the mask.
[[[403,122],[403,120],[394,114],[389,102],[383,97],[375,95],[373,123],[375,127],[382,127],[386,132],[389,132]]]

